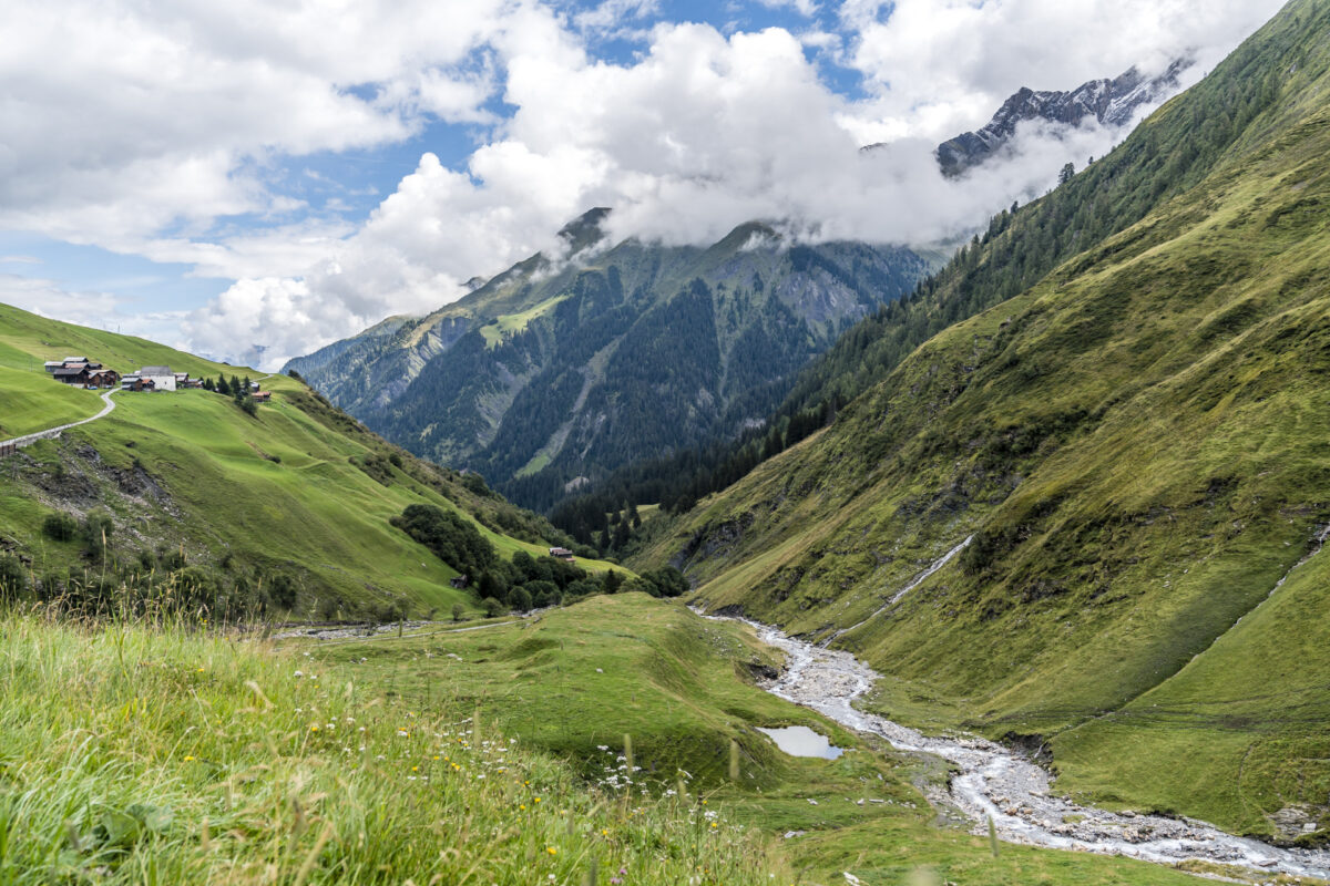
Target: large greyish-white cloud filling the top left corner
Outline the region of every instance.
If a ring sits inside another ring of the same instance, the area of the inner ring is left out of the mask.
[[[507,0],[16,0],[0,29],[0,226],[133,251],[262,213],[246,162],[484,121]]]

